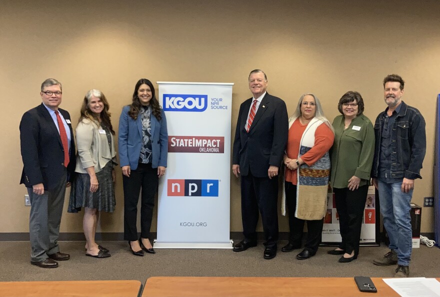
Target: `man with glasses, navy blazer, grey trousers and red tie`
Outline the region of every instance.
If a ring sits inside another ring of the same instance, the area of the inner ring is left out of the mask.
[[[75,143],[70,115],[58,108],[62,86],[56,79],[41,83],[42,103],[26,111],[20,122],[24,183],[30,198],[30,263],[58,266],[70,255],[59,252],[58,234],[65,188],[75,169]]]

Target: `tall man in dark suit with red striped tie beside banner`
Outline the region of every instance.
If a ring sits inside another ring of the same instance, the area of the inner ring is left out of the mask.
[[[240,105],[232,152],[232,172],[241,175],[241,219],[244,240],[234,251],[256,246],[258,209],[264,230],[264,258],[276,256],[278,240],[278,172],[288,134],[287,109],[282,99],[266,92],[267,77],[252,70],[252,98]]]

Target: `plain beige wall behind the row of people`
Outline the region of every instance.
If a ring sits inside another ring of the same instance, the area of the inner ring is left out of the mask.
[[[374,121],[385,108],[381,80],[398,73],[406,81],[404,101],[417,107],[427,123],[423,179],[416,181],[413,195],[422,205],[424,196],[433,195],[440,2],[271,2],[0,1],[0,232],[28,231],[30,207],[24,206],[26,191],[18,185],[18,125],[23,112],[40,103],[39,85],[47,77],[63,84],[61,107],[73,119],[85,92],[101,89],[116,127],[140,77],[234,82],[232,133],[239,104],[250,97],[251,69],[267,73],[268,91],[285,100],[289,114],[302,93],[314,92],[330,120],[338,114],[339,97],[357,90],[365,114]],[[123,230],[120,170],[117,173],[116,211],[102,216],[104,232]],[[240,231],[235,178],[230,192],[231,231]],[[61,232],[81,232],[81,219],[81,214],[64,212]],[[279,221],[280,231],[287,231],[286,218]],[[155,228],[154,220],[152,231]],[[423,208],[421,231],[433,230],[432,208]]]

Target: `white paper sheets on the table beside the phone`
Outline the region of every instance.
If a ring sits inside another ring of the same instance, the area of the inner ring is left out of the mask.
[[[440,297],[440,282],[435,278],[382,278],[402,297]]]

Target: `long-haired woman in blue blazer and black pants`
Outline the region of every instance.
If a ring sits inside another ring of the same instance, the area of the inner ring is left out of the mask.
[[[131,252],[154,253],[149,229],[159,177],[165,174],[168,132],[163,109],[148,79],[137,81],[133,102],[122,108],[119,118],[119,160],[124,191],[124,239]],[[141,192],[140,239],[137,237],[137,201]]]

